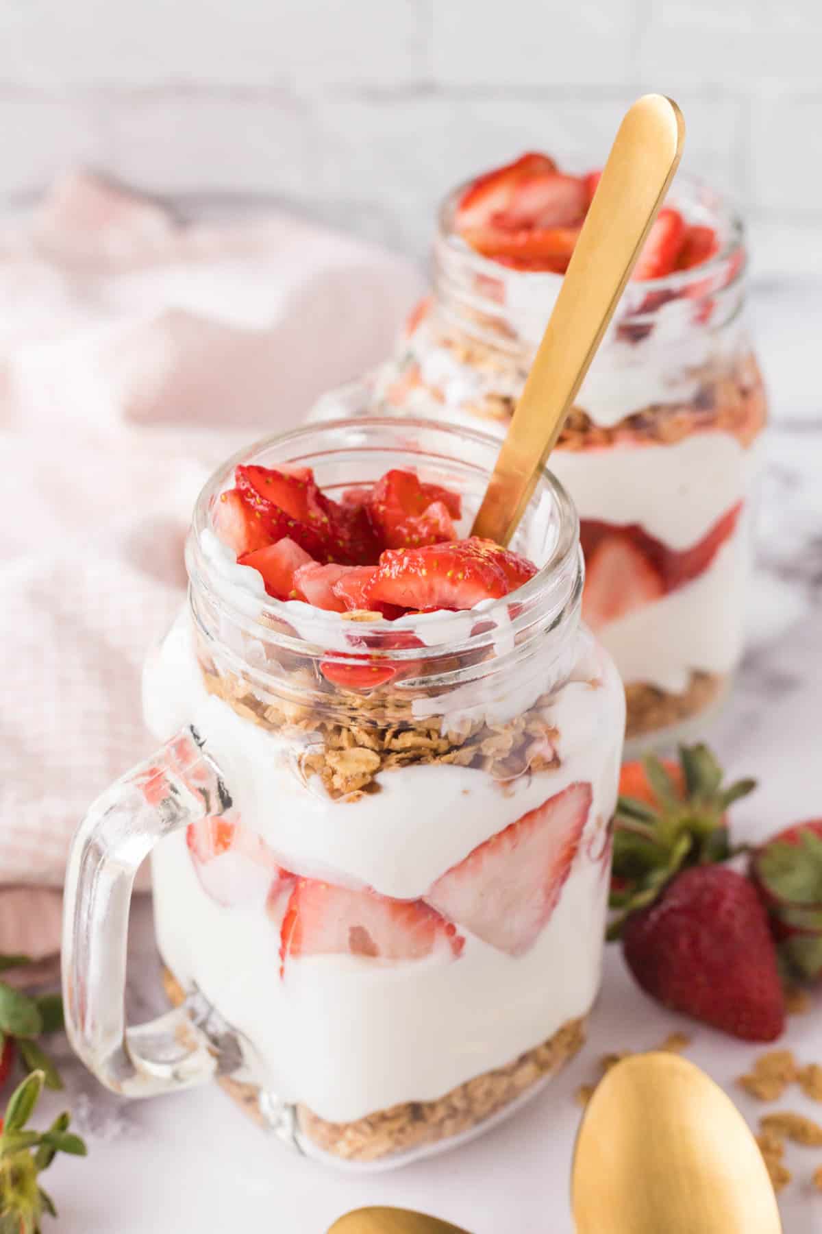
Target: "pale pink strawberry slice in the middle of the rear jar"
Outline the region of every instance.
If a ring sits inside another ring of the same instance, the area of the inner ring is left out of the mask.
[[[587,560],[582,615],[593,631],[662,595],[664,586],[658,571],[620,532],[603,538]]]

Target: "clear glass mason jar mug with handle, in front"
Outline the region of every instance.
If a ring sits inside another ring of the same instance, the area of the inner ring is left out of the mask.
[[[396,622],[272,600],[211,529],[238,463],[309,465],[332,495],[414,466],[470,518],[495,453],[454,427],[336,422],[259,443],[203,490],[189,601],[145,669],[166,745],[92,807],[69,869],[69,1029],[112,1087],[229,1074],[303,1153],[396,1165],[510,1113],[582,1044],[625,707],[579,621],[560,484],[543,474],[518,532],[540,570],[515,598]],[[147,832],[185,1002],[123,1050],[120,909],[95,896]]]

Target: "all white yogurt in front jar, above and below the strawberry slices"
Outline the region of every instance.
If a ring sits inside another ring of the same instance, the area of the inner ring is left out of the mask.
[[[609,658],[592,652],[588,639],[580,645],[580,673],[595,661],[599,680],[571,680],[555,696],[557,769],[500,784],[476,769],[412,765],[381,774],[378,793],[333,801],[318,780],[301,777],[276,734],[206,694],[181,615],[145,669],[147,722],[159,740],[195,724],[243,823],[295,872],[417,897],[568,784],[592,785],[557,907],[520,956],[461,930],[466,943],[457,958],[447,949],[402,964],[301,956],[280,977],[285,902],[266,905],[260,886],[242,905],[222,907],[203,890],[185,833],[163,840],[153,856],[160,951],[175,976],[196,983],[240,1033],[255,1082],[345,1122],[440,1097],[588,1011],[599,985],[604,824],[616,800],[625,702]]]

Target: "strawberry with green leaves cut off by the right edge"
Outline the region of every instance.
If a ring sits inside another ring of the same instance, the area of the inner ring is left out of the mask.
[[[796,823],[768,840],[751,859],[751,877],[768,909],[789,974],[822,976],[822,819]]]

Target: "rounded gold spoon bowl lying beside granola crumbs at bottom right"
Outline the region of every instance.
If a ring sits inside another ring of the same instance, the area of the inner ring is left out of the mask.
[[[577,1135],[571,1203],[577,1234],[781,1232],[748,1124],[675,1054],[624,1059],[598,1085]]]

